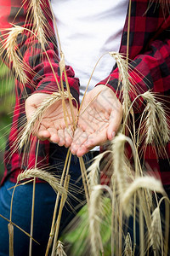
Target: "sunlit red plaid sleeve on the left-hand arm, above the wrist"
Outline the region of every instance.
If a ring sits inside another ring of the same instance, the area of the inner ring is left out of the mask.
[[[3,57],[6,55],[5,40],[7,38],[8,28],[14,25],[24,26],[31,29],[31,19],[28,14],[29,1],[21,0],[0,0],[0,42],[3,44]],[[26,78],[29,84],[34,86],[34,93],[45,92],[52,93],[58,90],[57,83],[54,78],[54,73],[60,82],[59,73],[59,56],[57,51],[56,40],[54,36],[53,21],[50,18],[50,9],[48,0],[45,0],[42,5],[42,11],[46,16],[46,53],[42,50],[41,45],[38,44],[37,38],[27,30],[24,34],[19,34],[17,38],[16,51],[20,55],[21,61],[24,64],[26,71]],[[29,17],[29,18],[28,18]],[[48,54],[48,57],[47,57]],[[49,59],[49,61],[48,61]],[[50,63],[49,63],[50,62]],[[54,69],[54,73],[52,71]],[[75,78],[74,71],[71,67],[66,66],[66,73],[68,83],[70,85],[71,94],[78,102],[79,98],[79,80]],[[65,78],[64,87],[65,87]]]

